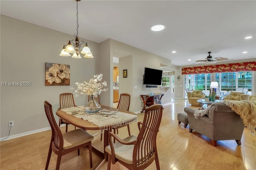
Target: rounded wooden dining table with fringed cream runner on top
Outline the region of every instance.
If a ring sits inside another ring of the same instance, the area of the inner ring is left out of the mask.
[[[96,170],[100,169],[108,160],[105,147],[109,145],[108,133],[112,128],[137,121],[136,113],[108,106],[101,106],[101,110],[95,113],[86,113],[83,106],[70,107],[56,111],[56,115],[75,127],[84,130],[101,130],[104,133],[104,150],[101,151],[92,145],[92,150],[102,156],[102,161],[96,166]]]

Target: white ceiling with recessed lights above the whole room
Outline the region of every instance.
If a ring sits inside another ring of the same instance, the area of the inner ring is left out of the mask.
[[[76,33],[74,0],[1,0],[0,5],[3,15]],[[172,65],[200,64],[195,61],[205,59],[208,51],[213,58],[256,58],[255,0],[82,0],[78,16],[80,38],[98,43],[112,38],[170,59]],[[166,29],[153,32],[155,24]],[[252,38],[244,39],[247,36]]]

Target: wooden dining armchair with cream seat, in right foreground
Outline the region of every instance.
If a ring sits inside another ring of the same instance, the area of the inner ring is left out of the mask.
[[[119,162],[129,170],[147,168],[154,160],[156,169],[160,170],[158,153],[156,149],[156,135],[162,119],[163,107],[160,104],[152,105],[145,110],[143,122],[138,122],[138,136],[128,136],[121,139],[113,132],[109,132],[110,145],[106,146],[108,152],[108,170],[111,162]],[[112,137],[118,142],[114,143]]]

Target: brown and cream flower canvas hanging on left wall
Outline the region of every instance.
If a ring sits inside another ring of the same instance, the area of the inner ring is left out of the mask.
[[[45,63],[45,85],[70,85],[70,65]]]

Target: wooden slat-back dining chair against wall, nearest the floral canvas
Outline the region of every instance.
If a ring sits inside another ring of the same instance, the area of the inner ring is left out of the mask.
[[[75,107],[75,101],[74,96],[72,93],[61,93],[60,94],[60,108],[59,109],[65,109],[68,107]],[[68,132],[68,124],[66,121],[63,121],[63,119],[60,118],[59,120],[59,127],[61,124],[66,124],[66,132]],[[76,129],[76,127],[75,127]]]

